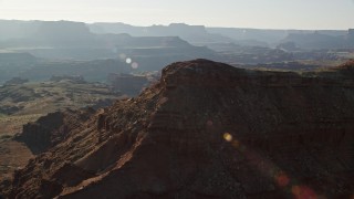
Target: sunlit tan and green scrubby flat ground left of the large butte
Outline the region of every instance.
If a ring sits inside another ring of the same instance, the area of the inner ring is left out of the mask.
[[[14,140],[23,125],[66,108],[107,106],[121,96],[106,85],[70,81],[25,83],[0,87],[0,181],[33,158],[32,151]]]

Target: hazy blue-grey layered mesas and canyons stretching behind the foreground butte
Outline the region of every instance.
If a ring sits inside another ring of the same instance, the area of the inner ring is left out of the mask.
[[[15,76],[43,81],[52,75],[81,75],[88,82],[106,82],[110,73],[160,71],[169,63],[192,59],[246,67],[295,60],[335,62],[340,60],[336,54],[327,52],[354,49],[353,29],[261,30],[184,23],[133,27],[0,20],[0,84]]]

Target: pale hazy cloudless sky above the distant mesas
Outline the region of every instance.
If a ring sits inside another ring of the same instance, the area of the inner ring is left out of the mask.
[[[348,29],[354,0],[0,0],[0,19]]]

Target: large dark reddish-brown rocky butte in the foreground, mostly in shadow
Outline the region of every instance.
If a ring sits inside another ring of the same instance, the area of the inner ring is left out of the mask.
[[[69,132],[9,197],[348,198],[353,158],[353,65],[299,75],[195,60]]]

